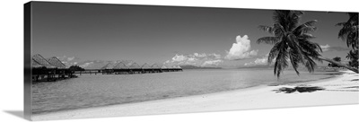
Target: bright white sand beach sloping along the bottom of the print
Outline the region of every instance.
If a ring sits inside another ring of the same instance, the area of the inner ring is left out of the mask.
[[[123,105],[112,105],[90,109],[74,109],[48,114],[33,115],[32,120],[101,118],[169,113],[188,113],[235,109],[269,109],[285,107],[322,106],[359,103],[359,75],[345,71],[332,79],[311,83],[295,83],[279,86],[258,86],[255,88],[217,92],[168,100],[151,100]],[[282,87],[319,86],[324,91],[316,92],[274,92]]]

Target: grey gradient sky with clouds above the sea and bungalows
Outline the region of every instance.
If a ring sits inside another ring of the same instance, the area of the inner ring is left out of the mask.
[[[35,2],[32,54],[59,57],[67,65],[95,60],[264,65],[273,45],[256,42],[271,36],[258,25],[272,25],[272,15],[273,10],[258,9]],[[337,38],[335,24],[347,19],[346,13],[304,11],[301,22],[318,21],[312,41],[323,48],[323,57],[345,60],[349,48]]]

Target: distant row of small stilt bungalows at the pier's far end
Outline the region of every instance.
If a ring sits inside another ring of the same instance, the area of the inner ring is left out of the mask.
[[[116,65],[107,64],[101,68],[102,74],[153,74],[153,73],[162,73],[162,72],[180,72],[182,68],[180,65],[166,66],[153,64],[148,65],[145,63],[140,66],[136,63],[133,63],[129,66],[125,65],[123,62],[120,62]]]

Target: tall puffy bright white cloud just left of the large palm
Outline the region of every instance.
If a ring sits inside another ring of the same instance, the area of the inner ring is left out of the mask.
[[[227,51],[225,59],[240,60],[257,56],[258,50],[250,50],[250,39],[247,35],[237,36],[236,43],[232,44],[230,51]]]

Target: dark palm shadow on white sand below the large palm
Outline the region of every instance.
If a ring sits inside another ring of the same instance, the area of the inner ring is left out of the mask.
[[[318,86],[296,86],[294,88],[282,87],[278,90],[273,90],[274,92],[285,92],[285,93],[293,93],[293,92],[317,92],[325,90],[322,87]]]

